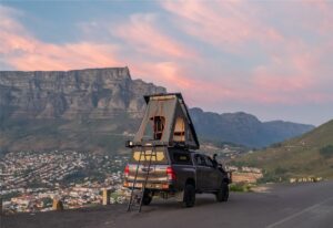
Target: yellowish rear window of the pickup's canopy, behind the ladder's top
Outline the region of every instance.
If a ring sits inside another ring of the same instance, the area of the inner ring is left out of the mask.
[[[154,155],[155,154],[155,155]],[[168,164],[168,158],[163,148],[157,148],[155,152],[152,152],[151,148],[148,148],[141,153],[140,149],[134,149],[131,157],[131,163],[149,163],[151,164]]]

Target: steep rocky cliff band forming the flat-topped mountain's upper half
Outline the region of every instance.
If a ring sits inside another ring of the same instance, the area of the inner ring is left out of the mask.
[[[142,95],[162,92],[164,87],[132,80],[128,68],[0,72],[0,117],[138,117],[144,111]]]

